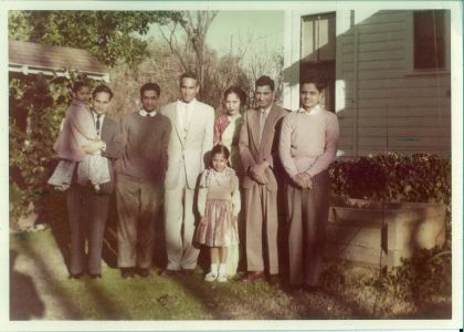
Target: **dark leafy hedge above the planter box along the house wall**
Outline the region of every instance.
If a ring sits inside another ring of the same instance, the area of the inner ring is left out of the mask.
[[[334,197],[440,203],[451,211],[451,160],[436,155],[389,153],[336,160],[329,172]]]

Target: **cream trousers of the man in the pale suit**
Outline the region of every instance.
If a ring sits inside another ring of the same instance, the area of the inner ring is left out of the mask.
[[[193,246],[194,189],[187,186],[184,167],[175,188],[165,189],[165,235],[168,270],[194,269],[200,250]]]

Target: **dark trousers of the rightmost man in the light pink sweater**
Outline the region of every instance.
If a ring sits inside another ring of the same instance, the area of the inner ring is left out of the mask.
[[[316,286],[326,241],[330,183],[325,170],[313,177],[313,189],[287,187],[289,212],[289,283]]]

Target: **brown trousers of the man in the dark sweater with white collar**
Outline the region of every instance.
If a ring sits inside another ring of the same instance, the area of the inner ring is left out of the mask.
[[[146,179],[118,174],[116,206],[119,268],[151,267],[155,246],[155,222],[162,186]]]

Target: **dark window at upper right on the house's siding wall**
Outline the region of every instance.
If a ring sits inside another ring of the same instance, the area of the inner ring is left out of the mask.
[[[445,11],[414,12],[414,70],[445,69]]]

